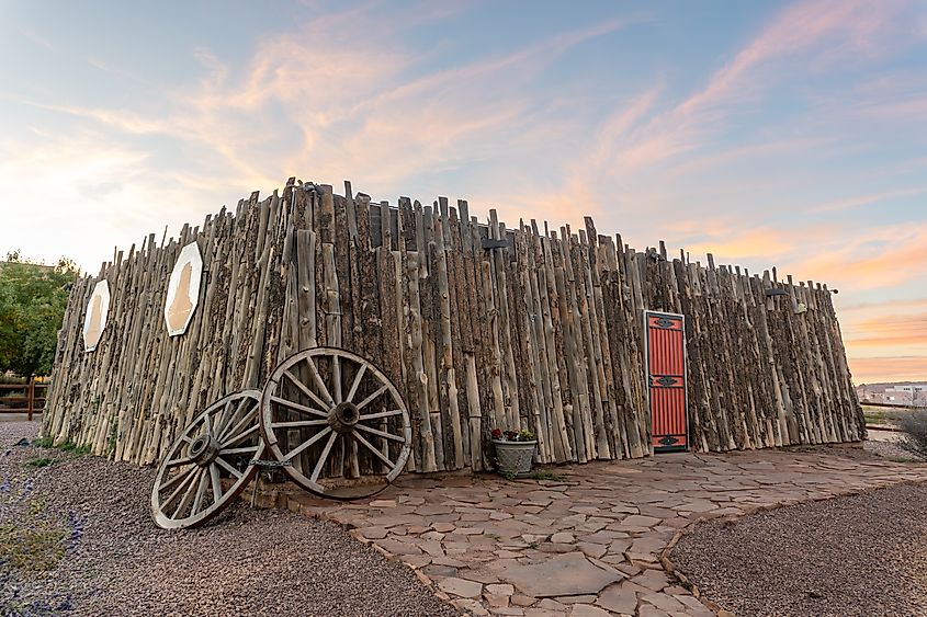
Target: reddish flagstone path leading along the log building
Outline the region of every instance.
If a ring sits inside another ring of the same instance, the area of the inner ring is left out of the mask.
[[[713,612],[660,562],[678,529],[927,481],[927,468],[870,457],[859,445],[677,454],[551,471],[562,479],[405,476],[368,502],[295,493],[287,505],[351,529],[473,615],[704,617]]]

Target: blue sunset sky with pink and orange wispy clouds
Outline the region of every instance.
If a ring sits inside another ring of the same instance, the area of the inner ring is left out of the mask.
[[[925,0],[0,0],[0,254],[97,273],[291,175],[776,265],[857,384],[927,380]]]

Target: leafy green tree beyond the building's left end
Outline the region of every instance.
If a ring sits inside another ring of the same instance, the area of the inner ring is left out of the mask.
[[[0,374],[52,372],[58,329],[78,275],[77,265],[66,259],[49,266],[14,251],[0,262]]]

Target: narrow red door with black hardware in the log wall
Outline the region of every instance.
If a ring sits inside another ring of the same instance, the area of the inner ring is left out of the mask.
[[[689,447],[686,331],[681,315],[646,311],[647,391],[654,452]]]

